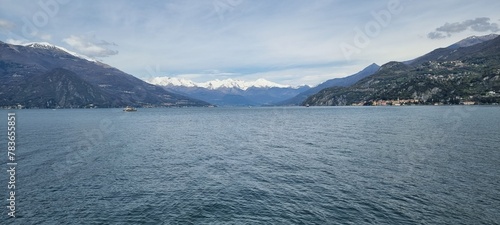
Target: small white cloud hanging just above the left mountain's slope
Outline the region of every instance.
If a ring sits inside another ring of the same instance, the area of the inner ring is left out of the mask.
[[[89,57],[107,57],[118,54],[118,51],[104,47],[112,45],[109,42],[96,41],[88,37],[71,35],[70,37],[63,39],[63,42],[70,45],[79,53]]]

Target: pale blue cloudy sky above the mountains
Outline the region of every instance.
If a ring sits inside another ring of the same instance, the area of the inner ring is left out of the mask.
[[[498,0],[0,0],[0,40],[136,77],[315,85],[500,33]]]

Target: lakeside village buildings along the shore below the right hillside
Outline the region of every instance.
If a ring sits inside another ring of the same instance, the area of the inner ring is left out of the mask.
[[[500,93],[494,91],[489,91],[484,96],[480,98],[495,98],[500,97]],[[474,101],[477,99],[474,96],[469,96],[469,98],[464,99],[461,97],[456,97],[453,101],[424,101],[419,99],[396,99],[396,100],[375,100],[375,101],[363,101],[353,103],[352,106],[404,106],[404,105],[498,105],[497,102],[484,102],[484,101]]]

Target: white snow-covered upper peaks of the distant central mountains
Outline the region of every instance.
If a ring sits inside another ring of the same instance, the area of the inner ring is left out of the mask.
[[[258,79],[255,81],[243,81],[243,80],[211,80],[204,83],[195,83],[190,80],[175,78],[175,77],[155,77],[146,80],[150,84],[159,86],[183,86],[183,87],[200,87],[210,90],[216,90],[221,88],[237,88],[240,90],[247,90],[248,88],[291,88],[290,85],[282,85],[275,82],[268,81],[266,79]]]

